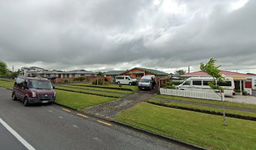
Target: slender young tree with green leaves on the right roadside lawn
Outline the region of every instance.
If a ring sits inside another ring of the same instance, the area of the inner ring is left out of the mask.
[[[221,97],[221,102],[223,104],[223,124],[224,126],[226,126],[227,122],[225,114],[225,101],[223,101],[223,95],[221,93],[225,88],[222,88],[218,85],[218,83],[225,83],[225,81],[223,81],[224,77],[221,76],[220,69],[218,69],[220,68],[220,66],[215,66],[215,62],[216,60],[214,58],[211,58],[207,64],[201,63],[200,69],[201,71],[204,71],[213,78],[213,81],[209,82],[208,85],[210,86],[211,89],[217,92],[216,94],[218,94]]]

